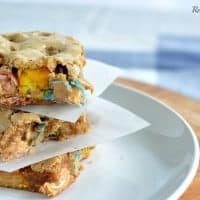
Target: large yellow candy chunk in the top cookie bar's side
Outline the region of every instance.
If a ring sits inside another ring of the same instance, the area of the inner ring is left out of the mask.
[[[42,97],[43,90],[48,88],[49,70],[45,67],[39,69],[25,69],[18,74],[19,93]]]

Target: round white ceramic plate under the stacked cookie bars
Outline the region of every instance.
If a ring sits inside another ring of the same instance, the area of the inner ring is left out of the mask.
[[[54,199],[177,199],[191,183],[199,162],[198,142],[191,127],[171,108],[139,91],[112,85],[103,97],[135,112],[152,126],[99,145],[77,181]],[[46,198],[1,188],[0,199]]]

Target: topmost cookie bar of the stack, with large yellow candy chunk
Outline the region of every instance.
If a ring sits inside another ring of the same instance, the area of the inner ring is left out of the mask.
[[[83,104],[93,87],[83,77],[83,46],[49,32],[0,35],[0,104]]]

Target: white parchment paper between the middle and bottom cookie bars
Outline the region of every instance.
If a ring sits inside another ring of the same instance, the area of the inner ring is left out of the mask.
[[[148,122],[134,113],[99,97],[88,105],[87,114],[91,123],[88,134],[62,142],[49,141],[40,144],[32,154],[9,162],[0,162],[0,170],[11,172],[56,155],[102,144],[149,126]]]

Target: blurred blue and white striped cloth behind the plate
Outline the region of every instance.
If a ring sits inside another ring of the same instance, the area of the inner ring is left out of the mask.
[[[200,100],[200,38],[161,36],[155,52],[88,50],[88,57],[125,69],[128,78]]]

